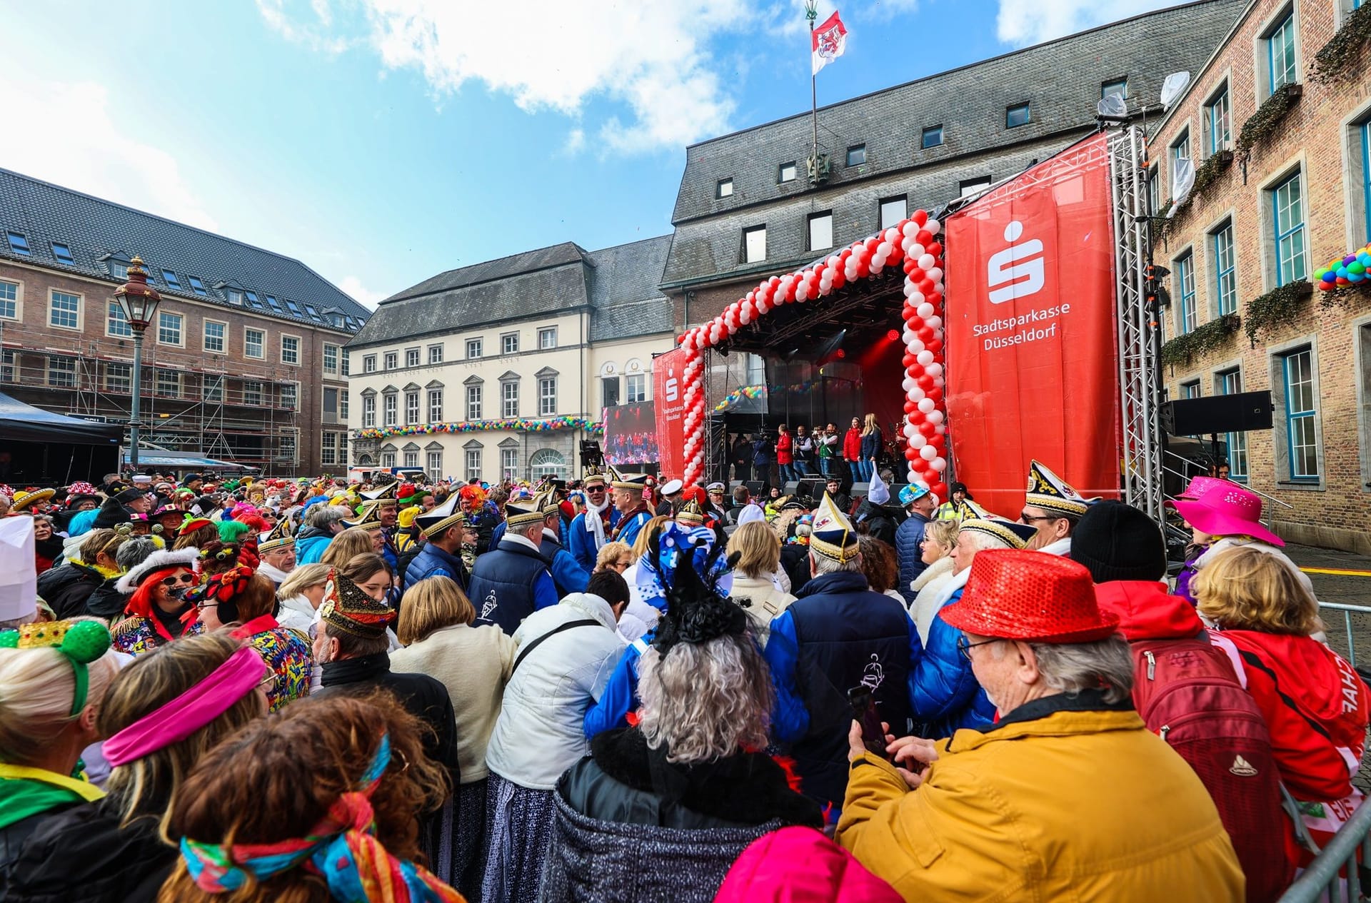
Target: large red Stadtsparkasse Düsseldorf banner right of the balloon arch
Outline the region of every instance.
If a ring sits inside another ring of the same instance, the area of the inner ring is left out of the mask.
[[[947,419],[956,478],[1017,519],[1038,459],[1119,497],[1119,332],[1109,163],[1087,138],[953,214]]]

